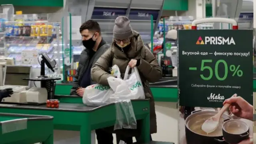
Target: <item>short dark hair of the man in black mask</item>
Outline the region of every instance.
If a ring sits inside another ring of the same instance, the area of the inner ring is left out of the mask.
[[[97,21],[95,20],[87,20],[86,22],[84,22],[81,26],[80,26],[80,33],[83,30],[88,29],[89,31],[94,31],[94,32],[98,32],[100,34],[100,25],[98,24]]]

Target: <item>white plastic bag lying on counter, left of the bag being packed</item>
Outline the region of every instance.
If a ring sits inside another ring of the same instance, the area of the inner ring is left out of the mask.
[[[93,84],[84,90],[83,103],[87,106],[102,106],[110,103],[110,95],[114,91],[109,86]]]

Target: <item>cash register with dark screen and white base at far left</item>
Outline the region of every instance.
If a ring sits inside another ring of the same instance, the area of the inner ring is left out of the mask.
[[[11,97],[4,98],[2,102],[26,102],[26,89],[29,88],[30,82],[23,80],[23,78],[30,78],[31,71],[32,66],[5,66],[3,86],[0,86],[0,90],[12,88],[14,94]]]

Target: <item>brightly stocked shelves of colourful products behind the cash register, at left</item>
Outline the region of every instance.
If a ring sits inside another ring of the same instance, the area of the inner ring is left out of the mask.
[[[9,16],[10,20],[2,21],[0,56],[14,58],[15,65],[31,65],[32,75],[39,76],[40,54],[46,53],[56,60],[54,73],[61,74],[62,34],[60,30],[62,24],[49,20],[50,15],[52,14],[13,15]],[[1,50],[1,45],[4,50]],[[53,73],[46,69],[46,74]]]

